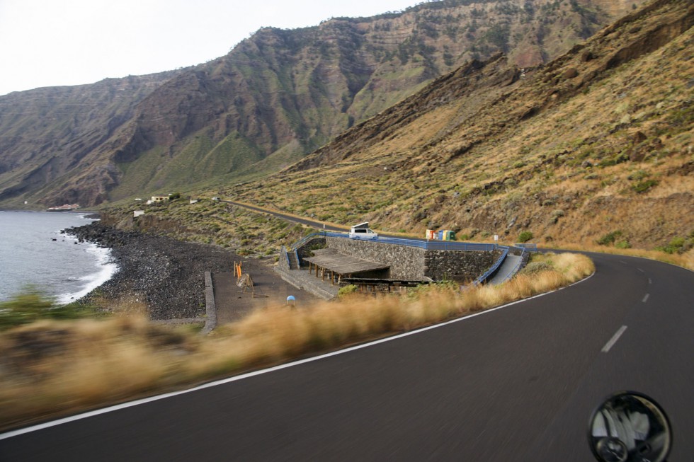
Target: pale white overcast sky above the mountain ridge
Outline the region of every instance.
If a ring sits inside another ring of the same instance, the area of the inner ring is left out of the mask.
[[[215,59],[261,27],[400,11],[420,0],[0,0],[0,95]]]

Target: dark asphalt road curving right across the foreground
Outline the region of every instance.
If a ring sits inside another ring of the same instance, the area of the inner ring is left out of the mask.
[[[692,461],[694,273],[591,257],[584,282],[479,316],[0,435],[0,461],[590,461],[588,416],[620,389],[659,401],[669,460]]]

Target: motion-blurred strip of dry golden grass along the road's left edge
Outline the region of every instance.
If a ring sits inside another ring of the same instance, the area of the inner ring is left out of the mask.
[[[551,291],[590,275],[584,255],[540,255],[491,287],[351,294],[307,308],[275,306],[209,337],[144,318],[40,320],[0,334],[0,428],[192,386]]]

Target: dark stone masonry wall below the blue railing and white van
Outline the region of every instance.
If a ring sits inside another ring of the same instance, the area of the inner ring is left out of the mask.
[[[460,250],[424,250],[397,246],[378,241],[360,241],[346,238],[326,238],[328,248],[345,255],[390,265],[389,279],[421,281],[431,277],[457,282],[476,279],[494,264],[500,252],[464,252]]]

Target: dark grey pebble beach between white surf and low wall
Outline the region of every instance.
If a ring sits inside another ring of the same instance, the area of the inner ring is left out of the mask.
[[[62,232],[110,248],[118,265],[118,272],[81,303],[97,296],[115,303],[137,299],[152,320],[204,316],[205,271],[230,272],[234,258],[241,259],[219,247],[120,231],[98,221]]]

